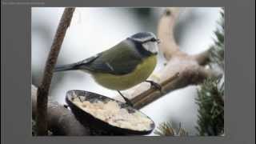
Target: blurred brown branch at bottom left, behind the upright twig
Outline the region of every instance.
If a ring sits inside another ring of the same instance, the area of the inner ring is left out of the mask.
[[[31,86],[32,117],[37,115],[37,87]],[[74,117],[71,110],[58,104],[58,102],[48,102],[47,123],[50,131],[54,135],[79,136],[90,135],[90,130],[82,126]]]

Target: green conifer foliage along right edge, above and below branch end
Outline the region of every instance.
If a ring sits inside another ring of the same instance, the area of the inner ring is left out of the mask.
[[[217,39],[214,46],[210,48],[210,61],[224,70],[224,12],[222,11],[221,14],[221,28],[214,32]],[[222,77],[207,78],[198,88],[196,101],[199,108],[196,128],[202,136],[224,134],[224,81]]]

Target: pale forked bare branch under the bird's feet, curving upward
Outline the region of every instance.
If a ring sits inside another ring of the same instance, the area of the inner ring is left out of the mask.
[[[142,82],[123,93],[137,109],[154,102],[172,90],[198,84],[207,77],[215,76],[213,72],[203,67],[208,62],[208,50],[195,55],[189,55],[179,50],[174,40],[174,25],[178,13],[178,8],[167,8],[158,23],[158,38],[161,41],[159,49],[167,62],[162,70],[150,76],[150,80],[158,82],[162,86],[163,92],[160,93],[159,90],[150,87],[148,83]]]

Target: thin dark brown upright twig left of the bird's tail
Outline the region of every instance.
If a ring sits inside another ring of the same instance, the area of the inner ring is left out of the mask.
[[[46,67],[42,77],[42,83],[38,87],[37,98],[37,134],[47,135],[47,103],[48,93],[50,89],[50,82],[54,72],[54,66],[57,62],[58,54],[62,46],[63,39],[67,28],[70,26],[74,8],[66,8],[62,14],[62,18],[58,24],[58,29],[54,36],[54,42],[50,48],[50,53],[46,61]]]

